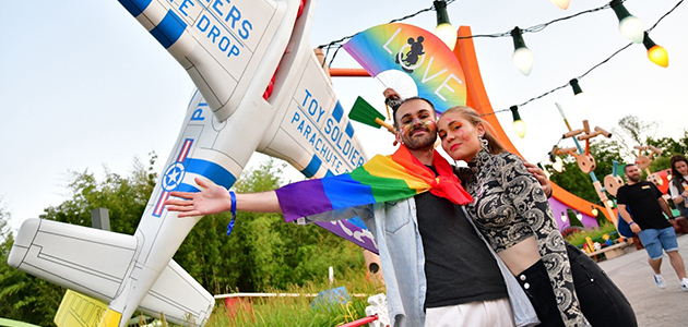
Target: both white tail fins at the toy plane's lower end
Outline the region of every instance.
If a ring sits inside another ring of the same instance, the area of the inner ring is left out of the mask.
[[[132,235],[32,218],[16,234],[8,264],[109,303],[132,268],[135,252]],[[213,295],[170,261],[139,310],[153,317],[163,312],[175,324],[204,324],[214,303]]]

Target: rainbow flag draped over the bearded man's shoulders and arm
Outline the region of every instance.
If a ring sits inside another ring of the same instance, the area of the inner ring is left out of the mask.
[[[402,145],[393,155],[377,155],[349,173],[301,181],[275,192],[286,221],[354,206],[412,197],[430,191],[464,205],[473,201],[449,162],[435,152],[439,177]]]

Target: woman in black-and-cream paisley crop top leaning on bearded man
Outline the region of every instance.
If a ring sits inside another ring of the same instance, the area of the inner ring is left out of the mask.
[[[593,326],[637,326],[628,300],[564,240],[542,187],[489,130],[467,107],[448,109],[438,121],[442,148],[468,162],[458,172],[476,198],[467,205],[468,214],[517,276],[541,326],[586,326],[589,320]]]

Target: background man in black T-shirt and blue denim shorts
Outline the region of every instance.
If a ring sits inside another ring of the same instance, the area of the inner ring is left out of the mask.
[[[624,167],[626,174],[626,185],[619,187],[616,193],[619,214],[628,222],[631,230],[638,234],[640,241],[648,251],[648,263],[654,271],[654,282],[660,289],[666,288],[666,281],[662,276],[662,249],[666,252],[672,263],[672,267],[678,275],[680,288],[688,291],[688,278],[686,278],[686,267],[684,259],[678,253],[678,243],[674,228],[666,220],[662,211],[669,219],[674,215],[666,201],[662,197],[662,192],[653,183],[640,180],[640,169],[633,164]],[[628,211],[632,213],[632,217]]]

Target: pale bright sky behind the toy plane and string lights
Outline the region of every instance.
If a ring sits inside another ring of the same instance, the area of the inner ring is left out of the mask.
[[[234,0],[239,2],[240,0]],[[244,0],[250,1],[250,0]],[[651,27],[680,0],[627,0],[628,11]],[[547,0],[458,0],[448,5],[451,23],[474,35],[527,28],[608,1],[571,0],[564,11]],[[429,0],[320,0],[311,44],[353,35],[432,4]],[[116,0],[0,1],[0,207],[17,229],[49,206],[69,198],[69,173],[104,171],[127,175],[134,158],[158,156],[158,172],[176,141],[194,85],[186,71]],[[680,137],[688,121],[688,4],[679,5],[652,32],[666,48],[669,66],[647,58],[633,45],[580,80],[589,95],[592,126],[615,130],[632,114],[656,122],[655,137]],[[404,21],[435,28],[435,12]],[[609,9],[525,33],[535,62],[529,76],[511,61],[510,37],[474,38],[485,88],[495,110],[526,101],[580,76],[629,41],[618,33]],[[329,59],[328,59],[329,60]],[[358,68],[344,50],[333,68]],[[368,77],[335,77],[334,89],[348,109],[357,96],[382,109],[384,86]],[[583,116],[574,110],[570,87],[520,108],[524,138],[511,129],[511,114],[497,113],[526,160],[544,160],[566,126],[555,102],[564,106],[573,129]],[[369,157],[390,154],[391,134],[354,123]],[[572,146],[562,141],[565,147]],[[629,144],[632,146],[634,144]],[[254,167],[265,156],[249,162]],[[285,179],[300,174],[287,167]]]

